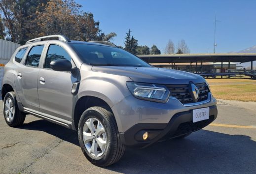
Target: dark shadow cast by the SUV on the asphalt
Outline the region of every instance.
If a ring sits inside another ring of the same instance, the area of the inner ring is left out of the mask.
[[[39,130],[74,145],[76,131],[46,120],[25,123],[20,129]],[[145,149],[127,148],[122,159],[109,167],[120,173],[256,173],[256,142],[244,135],[208,130],[181,140],[156,143]]]

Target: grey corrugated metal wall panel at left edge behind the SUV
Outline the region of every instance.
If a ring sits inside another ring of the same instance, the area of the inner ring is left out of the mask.
[[[20,44],[0,39],[0,59],[10,59]]]

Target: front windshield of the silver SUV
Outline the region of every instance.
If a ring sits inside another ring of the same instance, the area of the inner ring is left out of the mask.
[[[119,48],[76,43],[71,45],[79,57],[89,65],[151,67],[142,59]]]

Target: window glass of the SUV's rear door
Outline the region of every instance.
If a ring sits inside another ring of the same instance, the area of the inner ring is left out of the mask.
[[[43,47],[44,45],[38,45],[38,46],[32,47],[26,59],[25,65],[38,67]]]

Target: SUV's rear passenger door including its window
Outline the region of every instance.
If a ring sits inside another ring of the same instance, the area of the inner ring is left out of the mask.
[[[16,69],[17,76],[14,79],[16,91],[22,105],[36,111],[40,110],[37,92],[37,77],[43,49],[44,45],[42,44],[30,48],[25,61]]]

